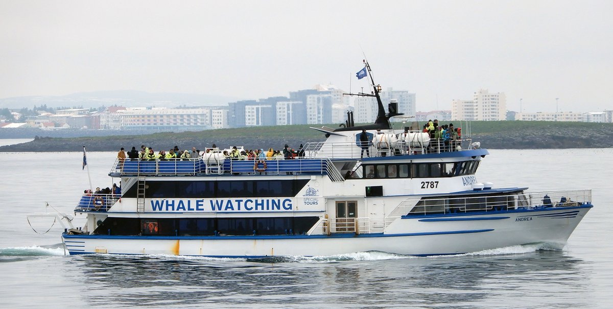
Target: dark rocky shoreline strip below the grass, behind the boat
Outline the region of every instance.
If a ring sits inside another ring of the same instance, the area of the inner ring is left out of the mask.
[[[206,131],[205,131],[206,132]],[[283,139],[278,137],[224,137],[215,139],[210,134],[203,132],[202,137],[194,137],[193,134],[185,136],[181,133],[172,134],[170,137],[156,137],[156,135],[129,135],[112,137],[77,137],[56,138],[39,137],[32,142],[20,143],[0,147],[0,152],[39,152],[39,151],[81,151],[83,146],[88,151],[118,151],[121,147],[126,151],[132,147],[140,148],[140,145],[153,147],[154,150],[167,150],[175,145],[183,149],[196,147],[204,149],[215,143],[220,148],[229,148],[233,145],[242,145],[248,149],[270,147],[278,150],[284,144],[291,148],[299,148],[300,143],[322,142],[321,138],[298,139],[288,135]],[[607,127],[586,131],[582,128],[548,131],[506,131],[504,133],[474,133],[474,142],[481,142],[482,148],[490,149],[557,149],[557,148],[609,148],[613,147],[613,131]]]

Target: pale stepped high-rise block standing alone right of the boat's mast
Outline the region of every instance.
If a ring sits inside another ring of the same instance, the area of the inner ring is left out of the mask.
[[[451,102],[451,118],[457,120],[506,120],[506,95],[489,93],[480,89],[473,93],[471,101],[454,100]]]

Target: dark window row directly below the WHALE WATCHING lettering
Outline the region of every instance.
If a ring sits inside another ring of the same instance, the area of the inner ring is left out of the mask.
[[[180,218],[139,219],[106,218],[94,234],[98,235],[302,235],[318,217],[281,218]]]

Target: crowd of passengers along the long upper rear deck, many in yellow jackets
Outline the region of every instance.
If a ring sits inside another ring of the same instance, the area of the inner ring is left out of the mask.
[[[205,151],[200,151],[196,147],[192,147],[191,150],[180,150],[178,146],[171,148],[168,152],[166,150],[160,150],[156,153],[151,147],[145,145],[140,146],[140,151],[136,150],[136,147],[132,147],[132,150],[128,151],[127,155],[122,147],[117,153],[117,158],[120,162],[129,161],[170,161],[170,160],[183,160],[189,161],[191,159],[199,159],[205,156],[207,153],[222,153],[224,158],[237,159],[237,160],[282,160],[282,159],[294,159],[304,156],[303,145],[300,144],[299,150],[290,148],[287,144],[283,147],[283,150],[274,150],[268,148],[268,151],[261,149],[251,150],[239,150],[236,146],[229,150],[220,150],[217,145],[213,144],[211,147],[205,148]]]

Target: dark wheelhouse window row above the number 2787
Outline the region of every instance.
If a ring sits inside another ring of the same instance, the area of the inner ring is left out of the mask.
[[[435,178],[473,175],[477,160],[450,163],[363,164],[363,178]]]

